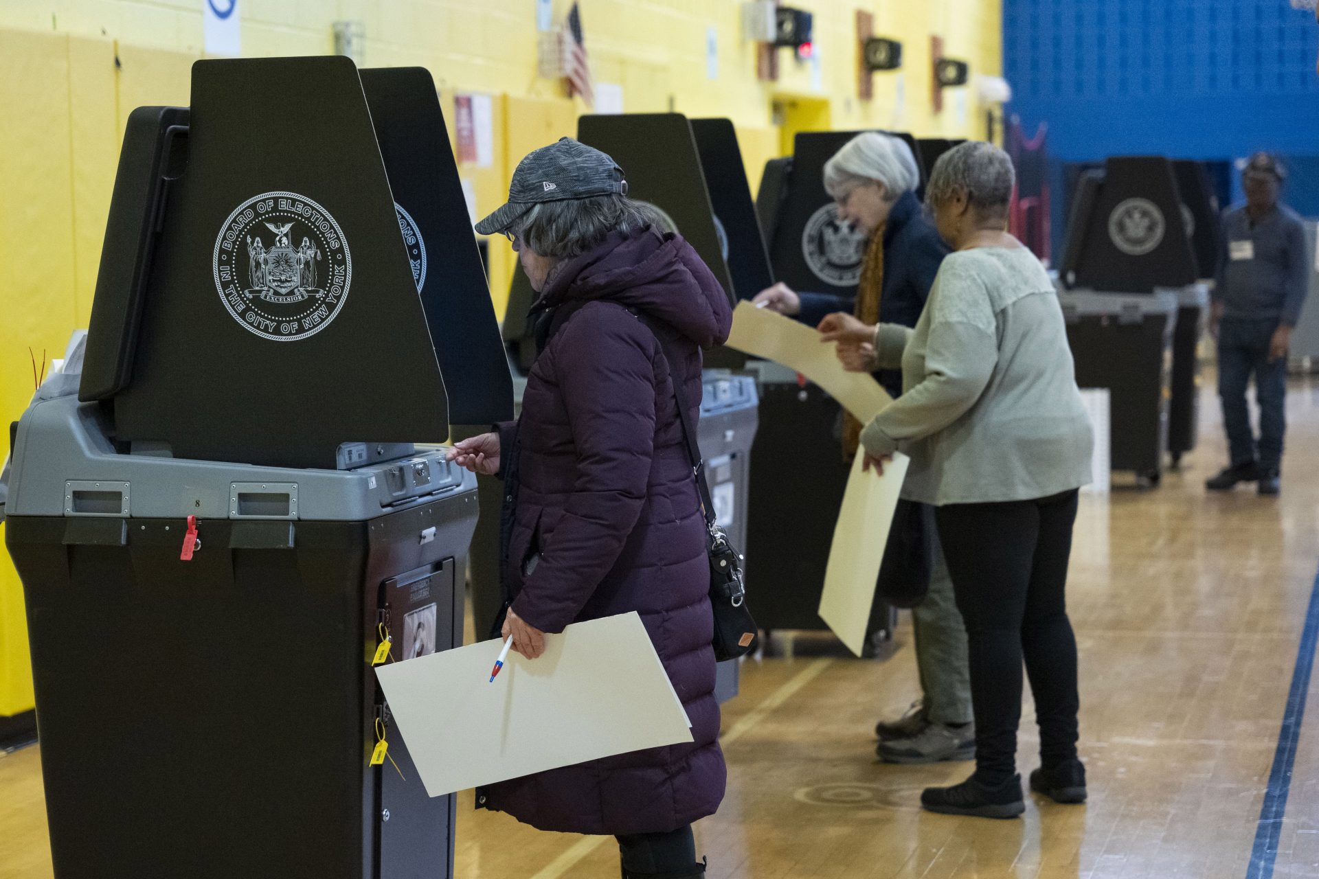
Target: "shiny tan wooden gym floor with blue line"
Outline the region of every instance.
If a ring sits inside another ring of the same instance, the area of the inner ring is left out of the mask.
[[[744,666],[724,713],[728,797],[696,830],[711,879],[1319,876],[1319,698],[1298,737],[1285,723],[1319,688],[1299,687],[1287,710],[1319,565],[1319,381],[1291,386],[1279,499],[1245,488],[1206,497],[1224,443],[1208,391],[1202,410],[1182,473],[1158,490],[1083,498],[1070,606],[1088,805],[1028,797],[1020,821],[922,813],[921,788],[959,781],[969,764],[874,762],[876,718],[915,696],[904,625],[888,662],[798,650]],[[1024,774],[1031,721],[1028,705]],[[50,875],[32,747],[0,758],[0,879]],[[617,850],[476,813],[464,795],[456,875],[613,879]]]

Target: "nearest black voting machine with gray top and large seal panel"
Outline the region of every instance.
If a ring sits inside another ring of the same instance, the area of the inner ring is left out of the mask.
[[[32,435],[51,401],[18,424],[7,521],[57,879],[452,875],[452,797],[426,796],[371,656],[380,627],[410,635],[394,660],[462,643],[475,482],[413,441],[512,403],[434,86],[364,79],[200,61],[190,108],[129,119],[75,430],[104,431],[103,478],[135,473],[133,513],[127,481],[121,517],[24,513],[66,464]],[[278,125],[236,99],[260,95]],[[286,482],[226,515],[245,473]]]

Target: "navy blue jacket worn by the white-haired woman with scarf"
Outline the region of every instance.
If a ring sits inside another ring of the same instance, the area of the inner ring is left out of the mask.
[[[884,290],[880,294],[880,323],[914,327],[925,311],[925,300],[939,274],[948,245],[925,215],[914,192],[904,192],[889,212],[884,227]],[[856,294],[798,293],[802,312],[798,320],[814,327],[835,311],[851,314],[856,307]],[[902,393],[902,373],[884,370],[876,380],[893,397]]]

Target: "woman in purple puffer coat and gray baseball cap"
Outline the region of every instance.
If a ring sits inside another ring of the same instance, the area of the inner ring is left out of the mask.
[[[700,349],[727,339],[732,311],[691,246],[625,194],[613,159],[565,138],[524,158],[509,203],[477,224],[513,240],[541,294],[539,354],[521,419],[450,457],[505,481],[513,650],[536,659],[547,633],[638,611],[694,741],[495,784],[477,803],[617,837],[624,876],[686,879],[704,872],[691,824],[719,808],[725,770],[707,534],[673,382],[699,405]]]

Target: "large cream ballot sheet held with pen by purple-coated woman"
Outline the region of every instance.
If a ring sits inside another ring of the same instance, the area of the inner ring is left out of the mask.
[[[376,668],[426,793],[690,742],[687,716],[636,613],[546,635],[545,654],[487,640]]]

